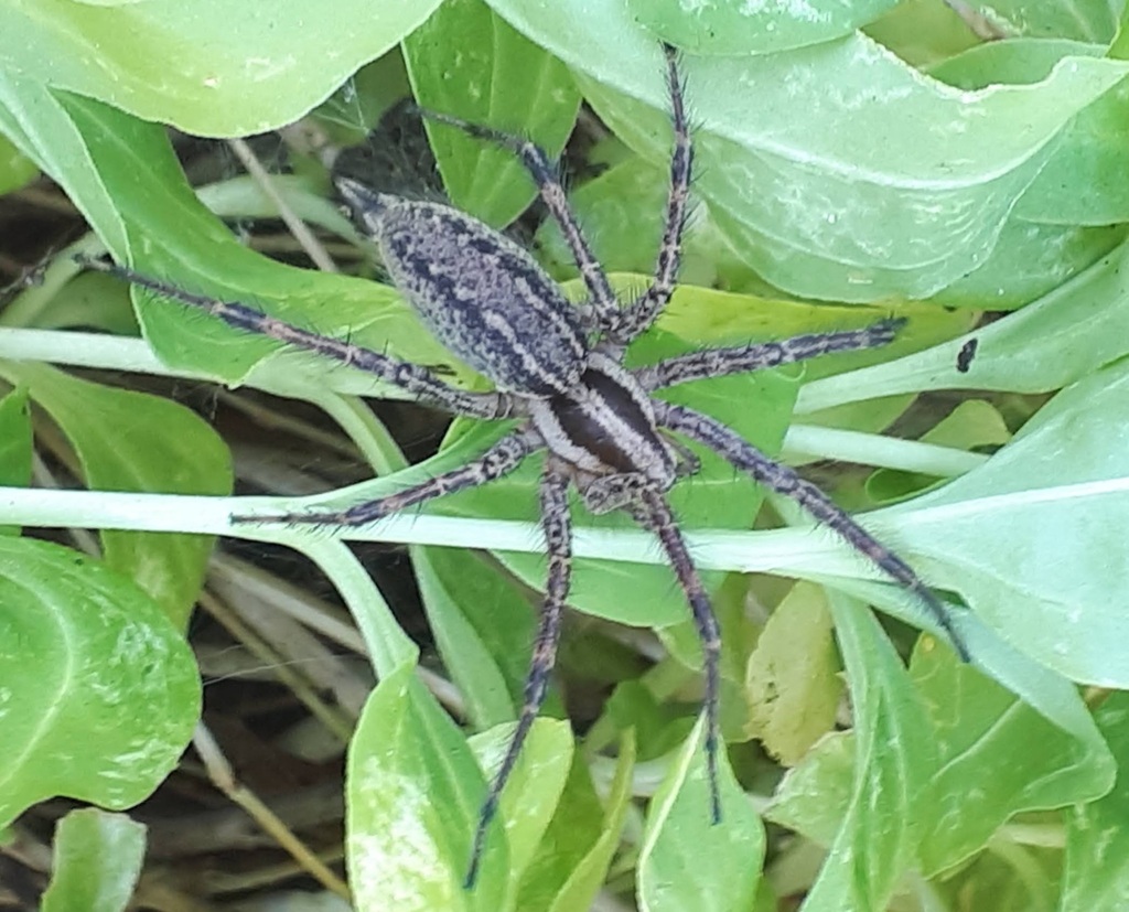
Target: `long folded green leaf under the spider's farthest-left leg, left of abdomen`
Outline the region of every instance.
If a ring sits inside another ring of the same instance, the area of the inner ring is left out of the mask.
[[[0,126],[63,185],[117,260],[195,293],[242,300],[327,335],[446,365],[456,380],[469,375],[420,331],[391,288],[283,266],[240,245],[189,187],[158,126],[10,76],[0,78]],[[133,293],[147,341],[174,369],[239,383],[257,367],[259,386],[299,397],[325,384],[323,359],[280,356],[277,342]],[[371,387],[367,378],[365,386]]]

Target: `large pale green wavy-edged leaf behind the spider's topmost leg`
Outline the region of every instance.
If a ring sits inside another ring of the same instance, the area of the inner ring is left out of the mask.
[[[621,139],[668,158],[662,54],[623,5],[492,7],[575,68]],[[863,301],[928,297],[983,263],[1065,126],[1129,64],[1070,56],[1032,86],[962,93],[855,33],[683,69],[695,191],[728,240],[779,288]]]

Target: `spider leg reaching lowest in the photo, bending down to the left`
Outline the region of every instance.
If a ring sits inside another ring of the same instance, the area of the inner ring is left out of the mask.
[[[479,812],[478,826],[474,830],[474,842],[471,848],[471,861],[466,870],[464,887],[470,889],[479,876],[479,865],[482,861],[482,850],[485,845],[487,830],[498,813],[498,799],[506,788],[514,765],[525,746],[530,729],[541,704],[545,701],[549,690],[549,676],[557,661],[557,646],[561,633],[561,613],[564,599],[568,597],[569,582],[572,575],[572,524],[568,511],[568,476],[550,458],[541,480],[541,526],[545,534],[545,546],[549,554],[549,580],[545,585],[545,600],[541,607],[541,622],[537,625],[537,638],[533,647],[533,658],[530,672],[525,677],[525,696],[522,703],[522,714],[517,728],[506,748],[498,772],[490,782],[490,790]]]

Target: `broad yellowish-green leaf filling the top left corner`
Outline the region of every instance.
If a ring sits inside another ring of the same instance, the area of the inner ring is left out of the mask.
[[[263,133],[324,100],[437,6],[325,0],[315,16],[300,0],[12,0],[0,70],[190,133]]]

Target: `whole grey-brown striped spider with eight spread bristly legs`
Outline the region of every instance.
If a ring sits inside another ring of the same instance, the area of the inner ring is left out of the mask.
[[[281,323],[246,305],[195,296],[128,269],[97,264],[135,284],[202,308],[231,326],[369,371],[447,412],[478,419],[520,419],[515,430],[458,468],[343,511],[287,514],[273,517],[275,521],[318,526],[373,523],[432,498],[487,484],[513,472],[534,453],[546,453],[540,485],[541,527],[548,552],[545,597],[518,724],[479,813],[465,878],[467,887],[478,877],[499,797],[545,698],[555,660],[571,571],[570,485],[590,512],[625,510],[654,533],[685,594],[704,654],[710,814],[715,823],[720,819],[720,640],[709,596],[666,499],[666,492],[680,477],[698,471],[697,458],[673,435],[712,449],[831,527],[916,596],[961,657],[968,658],[948,610],[901,558],[819,488],[709,415],[651,396],[658,389],[691,380],[885,345],[904,321],[887,318],[861,330],[697,351],[634,370],[623,367],[628,345],[655,323],[671,299],[686,222],[693,150],[675,52],[665,46],[664,54],[674,128],[665,226],[650,287],[625,306],[612,291],[569,209],[555,163],[533,142],[446,114],[425,112],[431,120],[497,143],[519,158],[579,269],[587,299],[578,305],[564,298],[525,249],[476,219],[438,203],[375,193],[353,179],[338,179],[341,196],[377,243],[396,288],[452,352],[493,382],[495,392],[457,389],[427,368]]]

